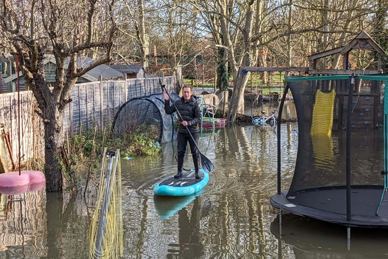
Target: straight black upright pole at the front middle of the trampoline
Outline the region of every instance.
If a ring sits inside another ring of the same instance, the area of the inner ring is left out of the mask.
[[[352,166],[350,160],[350,129],[352,128],[352,103],[353,103],[353,87],[354,87],[354,73],[350,79],[349,96],[348,96],[348,115],[346,117],[346,220],[352,219],[351,209],[351,193],[350,186],[352,183]]]

